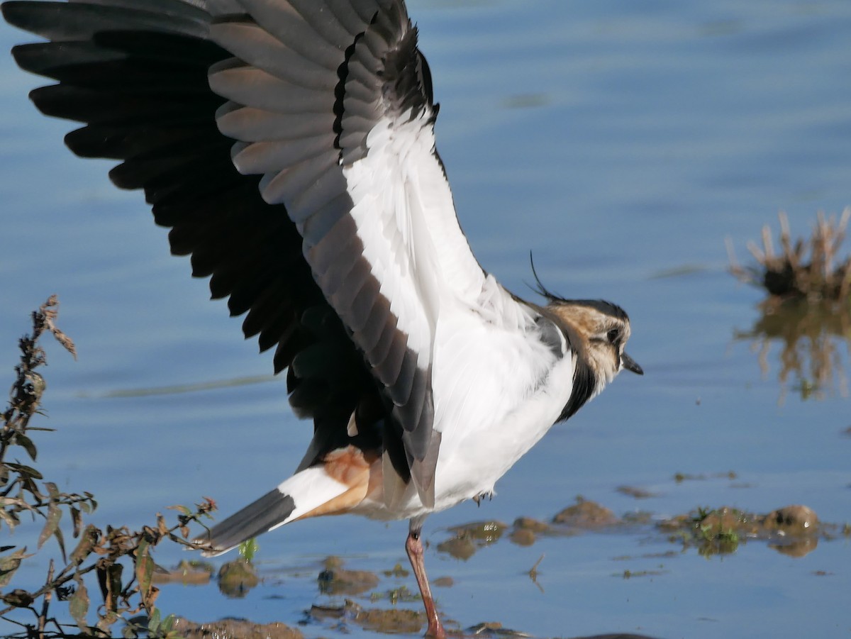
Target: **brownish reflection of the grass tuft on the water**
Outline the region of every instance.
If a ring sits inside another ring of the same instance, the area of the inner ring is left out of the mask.
[[[751,343],[763,378],[771,372],[772,345],[780,347],[780,402],[791,388],[802,399],[824,399],[836,391],[848,397],[848,377],[842,351],[851,348],[848,304],[804,300],[765,300],[760,317],[749,330],[734,331],[734,339]]]

